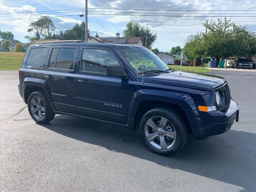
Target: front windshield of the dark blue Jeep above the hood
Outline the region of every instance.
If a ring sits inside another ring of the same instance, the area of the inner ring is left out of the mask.
[[[146,48],[120,46],[120,50],[136,74],[164,72],[169,69],[156,54]]]

